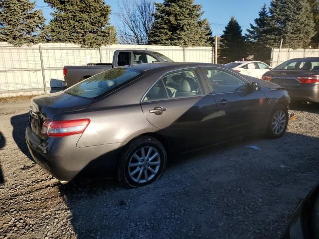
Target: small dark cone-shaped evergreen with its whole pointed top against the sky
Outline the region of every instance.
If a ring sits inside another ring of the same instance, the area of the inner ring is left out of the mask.
[[[245,37],[235,17],[231,17],[220,40],[220,61],[229,63],[246,57]]]

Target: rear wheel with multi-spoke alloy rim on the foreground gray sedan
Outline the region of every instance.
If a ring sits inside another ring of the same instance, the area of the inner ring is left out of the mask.
[[[142,136],[131,141],[118,163],[117,176],[121,186],[140,187],[157,180],[166,166],[166,151],[154,137]]]

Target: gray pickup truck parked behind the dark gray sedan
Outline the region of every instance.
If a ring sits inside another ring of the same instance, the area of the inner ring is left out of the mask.
[[[112,62],[113,63],[89,63],[86,66],[64,66],[64,81],[69,87],[114,67],[154,62],[172,62],[172,60],[155,51],[117,50],[114,52]]]

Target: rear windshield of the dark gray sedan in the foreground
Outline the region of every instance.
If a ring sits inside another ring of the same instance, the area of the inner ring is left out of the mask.
[[[141,71],[133,69],[113,68],[81,81],[64,92],[72,96],[92,99],[125,85],[141,74]]]

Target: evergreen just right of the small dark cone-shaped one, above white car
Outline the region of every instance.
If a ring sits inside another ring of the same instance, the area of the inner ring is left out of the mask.
[[[267,62],[271,57],[271,48],[266,47],[266,40],[270,26],[270,16],[267,5],[264,4],[259,11],[259,17],[254,20],[256,25],[250,24],[247,29],[246,39],[248,54],[254,55],[255,60]]]

